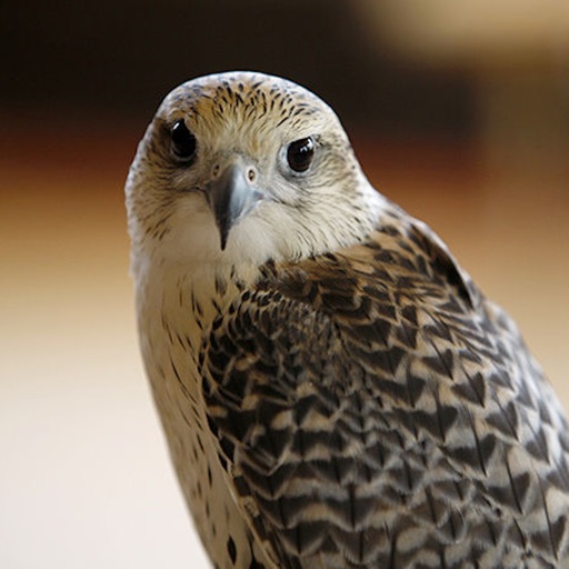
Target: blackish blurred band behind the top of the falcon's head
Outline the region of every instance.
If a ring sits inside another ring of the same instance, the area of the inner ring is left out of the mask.
[[[146,119],[187,79],[247,69],[302,83],[381,136],[473,130],[467,73],[378,49],[352,2],[2,2],[0,62],[4,114]]]

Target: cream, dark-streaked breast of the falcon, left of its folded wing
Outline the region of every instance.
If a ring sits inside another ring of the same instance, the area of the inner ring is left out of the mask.
[[[189,288],[156,287],[139,293],[138,316],[147,375],[196,528],[219,567],[234,567],[227,543],[246,543],[238,558],[248,557],[249,532],[208,428],[198,368],[203,338],[223,305]]]

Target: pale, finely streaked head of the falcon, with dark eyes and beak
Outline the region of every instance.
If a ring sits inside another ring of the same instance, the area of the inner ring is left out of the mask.
[[[333,111],[249,72],[174,89],[127,181],[133,254],[161,262],[259,264],[350,244],[371,228],[369,199]]]

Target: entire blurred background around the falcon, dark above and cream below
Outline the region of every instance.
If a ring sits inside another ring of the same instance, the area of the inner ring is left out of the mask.
[[[566,0],[0,2],[0,566],[207,567],[138,353],[122,187],[176,84],[281,74],[569,408]]]

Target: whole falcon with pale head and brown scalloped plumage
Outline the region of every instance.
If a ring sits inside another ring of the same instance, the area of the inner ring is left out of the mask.
[[[260,72],[182,83],[126,204],[146,372],[212,567],[569,567],[560,401],[322,99]]]

